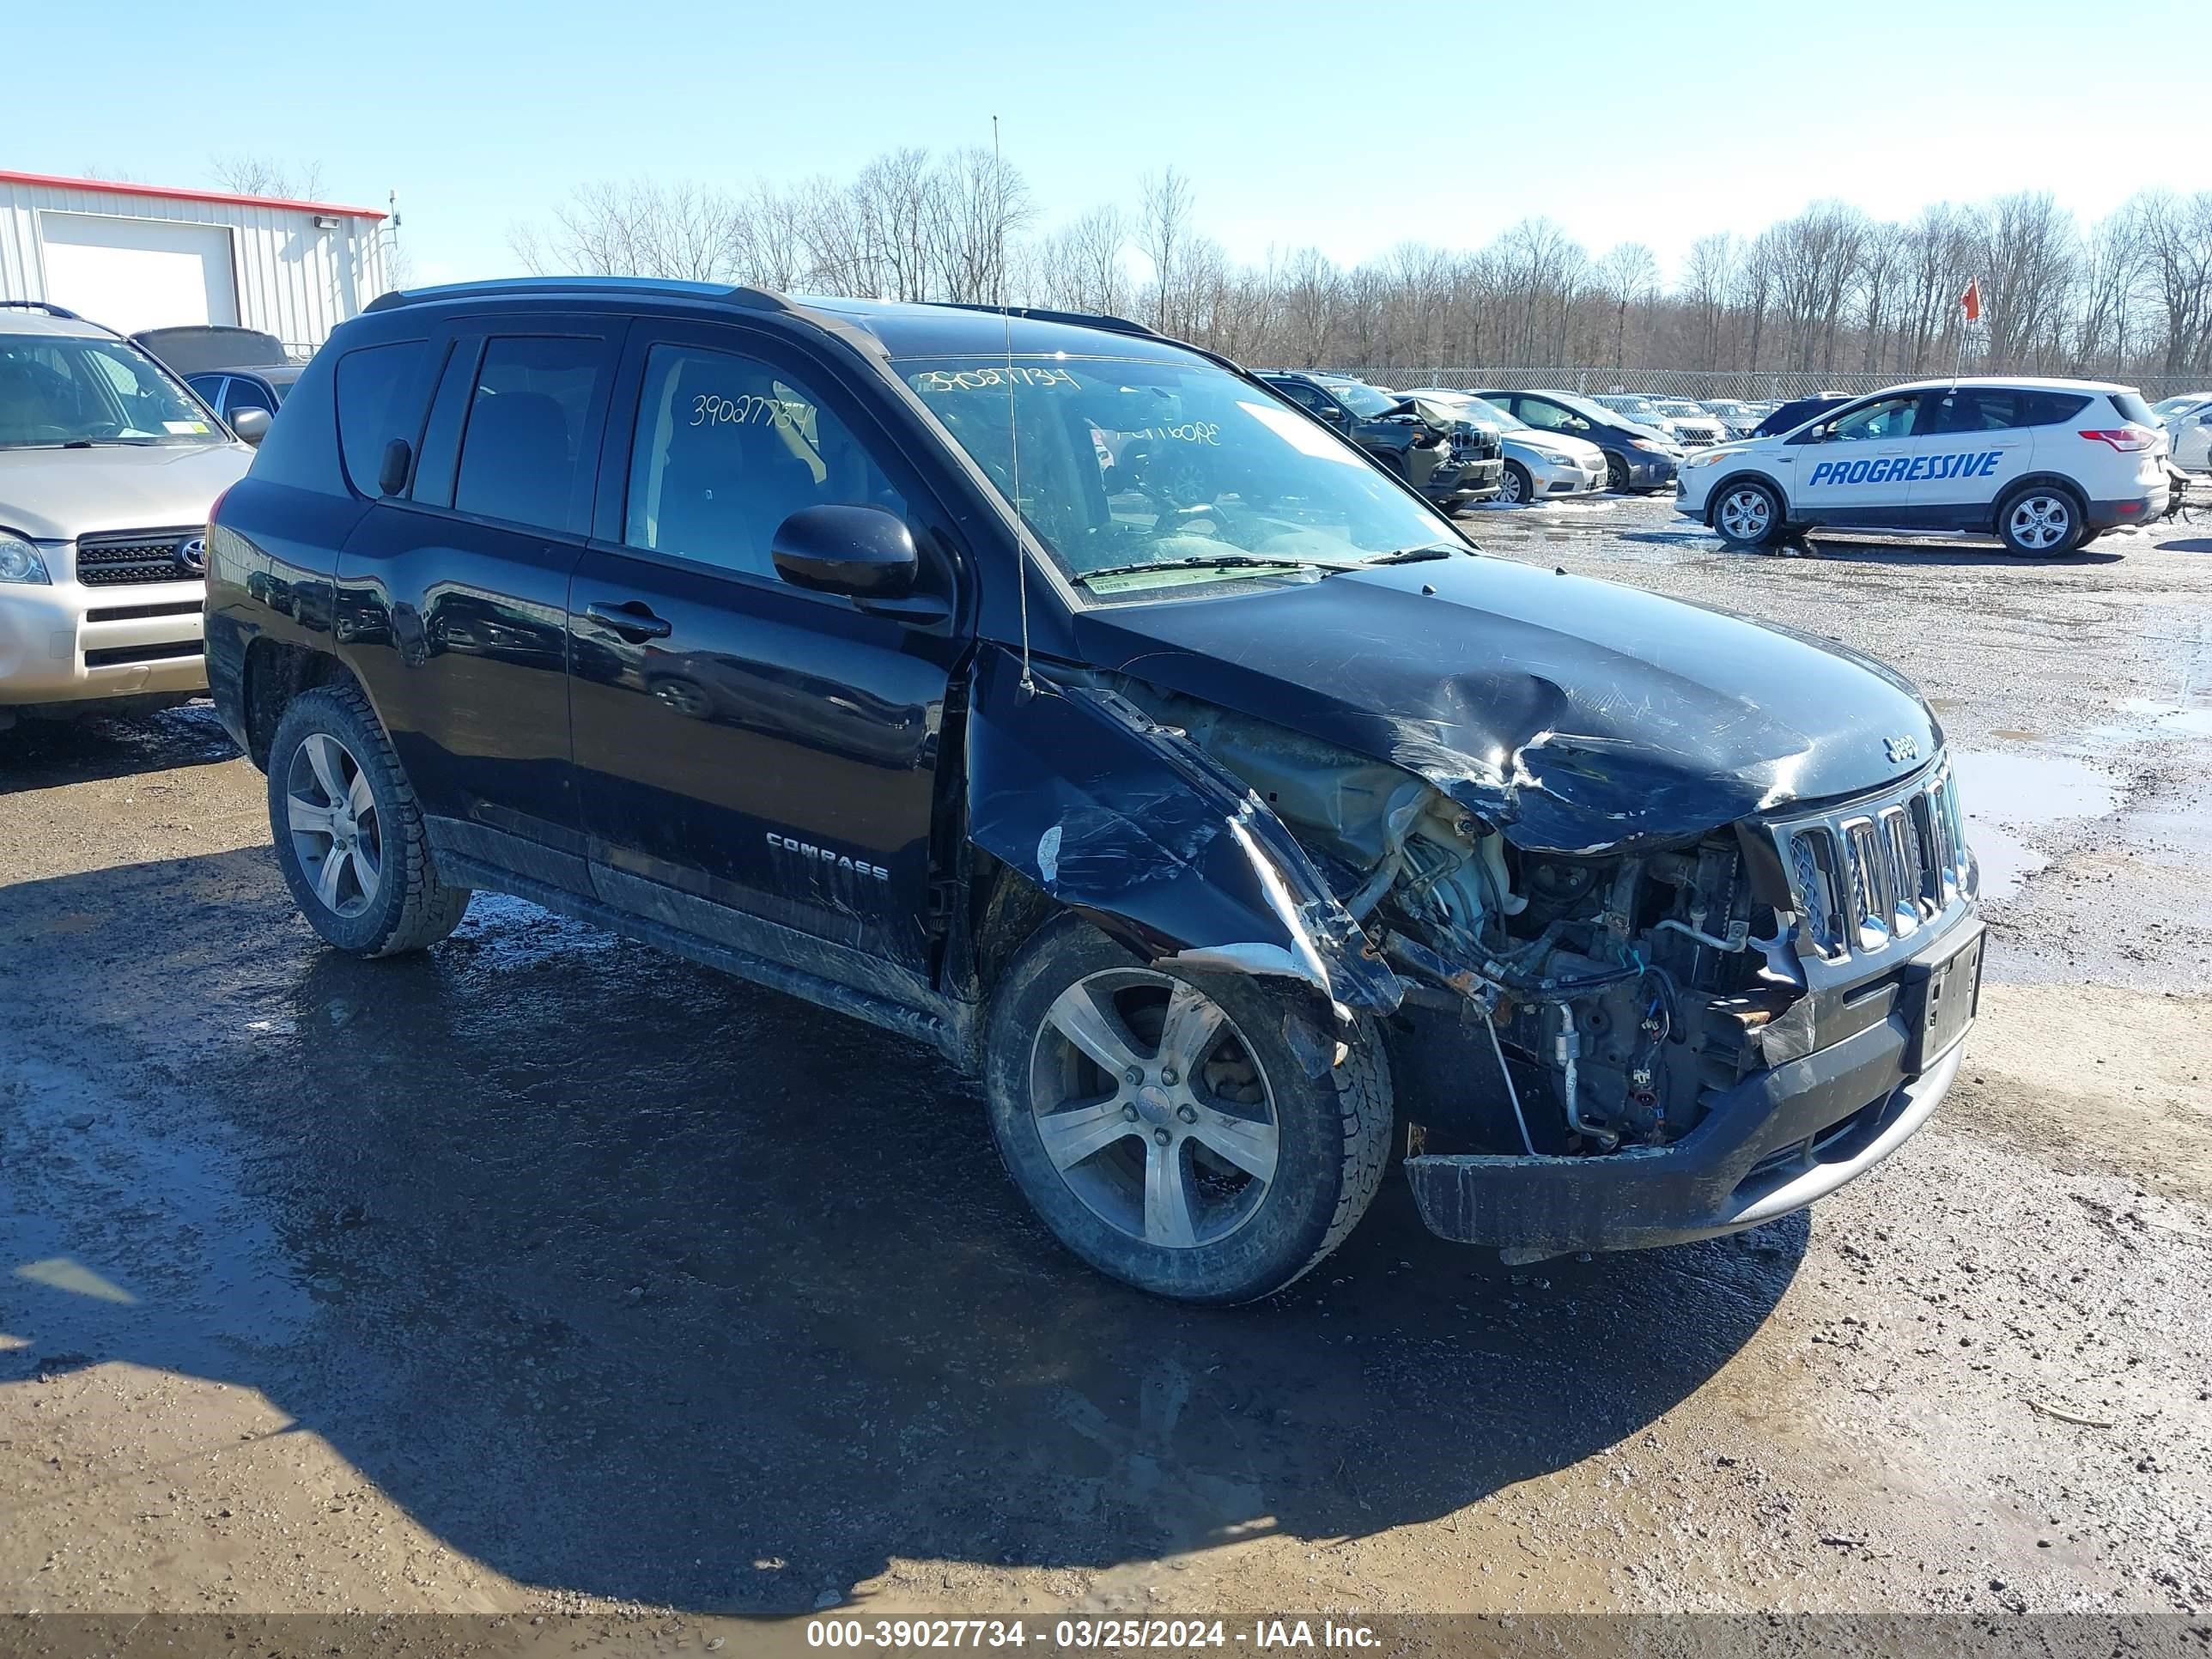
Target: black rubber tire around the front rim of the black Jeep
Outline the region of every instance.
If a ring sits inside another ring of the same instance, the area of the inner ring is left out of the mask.
[[[1281,1150],[1256,1214],[1237,1232],[1194,1250],[1157,1250],[1091,1210],[1044,1155],[1029,1104],[1029,1064],[1046,1009],[1075,980],[1146,967],[1088,922],[1062,916],[1009,964],[991,1002],[984,1099],[991,1135],[1015,1188],[1068,1250],[1110,1279],[1192,1303],[1243,1303],[1281,1290],[1321,1254],[1347,1181],[1345,1119],[1334,1073],[1314,1079],[1283,1040],[1287,991],[1241,973],[1177,973],[1237,1022],[1274,1093]]]

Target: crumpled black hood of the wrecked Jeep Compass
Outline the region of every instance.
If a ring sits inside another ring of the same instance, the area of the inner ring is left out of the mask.
[[[1099,668],[1418,772],[1531,852],[1863,794],[1942,743],[1902,677],[1843,646],[1498,557],[1110,606],[1077,639]]]

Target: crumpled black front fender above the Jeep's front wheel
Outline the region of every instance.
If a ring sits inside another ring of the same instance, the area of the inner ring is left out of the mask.
[[[1352,1013],[1398,975],[1283,821],[1172,726],[984,646],[967,726],[969,838],[1148,962],[1303,980]]]

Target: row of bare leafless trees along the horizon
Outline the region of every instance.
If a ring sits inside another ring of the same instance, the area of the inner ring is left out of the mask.
[[[1699,237],[1672,281],[1641,243],[1593,254],[1551,219],[1473,252],[1402,241],[1230,259],[1175,168],[1044,223],[991,150],[898,148],[849,179],[732,190],[591,184],[518,226],[531,272],[686,276],[860,299],[1137,316],[1243,363],[1349,369],[1666,367],[1907,378],[2185,376],[2212,365],[2212,190],[2143,190],[2081,223],[2051,192],[1938,201],[1880,221],[1816,201],[1759,234]],[[1960,294],[1980,283],[1980,330]]]

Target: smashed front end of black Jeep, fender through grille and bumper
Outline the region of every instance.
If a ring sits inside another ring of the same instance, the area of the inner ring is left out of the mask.
[[[1940,752],[1840,805],[1562,849],[1555,796],[1486,814],[1442,763],[1130,677],[1022,692],[1002,664],[971,732],[978,845],[1152,960],[1298,978],[1338,1035],[1374,1015],[1422,1219],[1509,1259],[1801,1208],[1918,1128],[1973,1018]],[[1011,743],[1031,787],[987,787]]]

